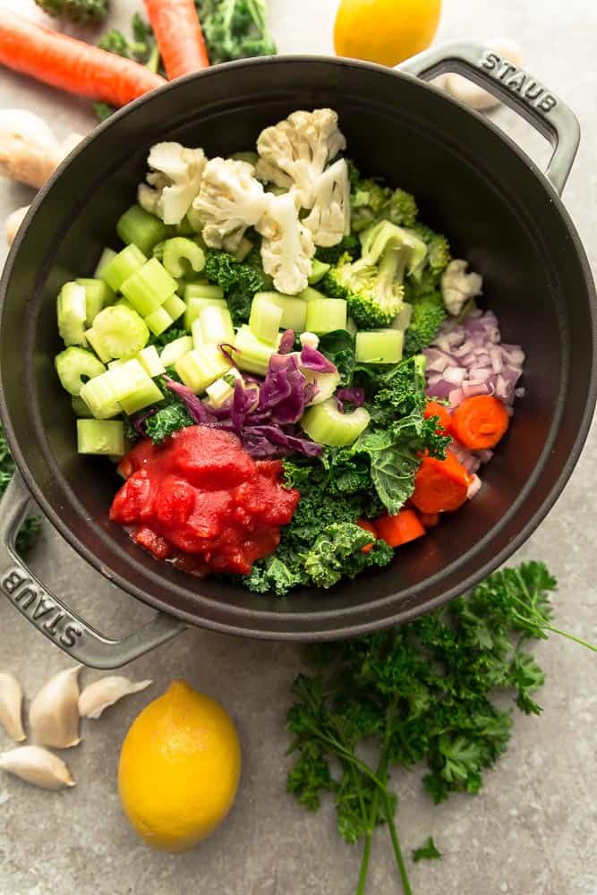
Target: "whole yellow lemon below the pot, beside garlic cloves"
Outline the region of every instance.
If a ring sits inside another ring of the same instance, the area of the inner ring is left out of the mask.
[[[132,722],[120,755],[124,813],[150,846],[184,851],[205,839],[235,801],[241,747],[222,706],[183,680]]]

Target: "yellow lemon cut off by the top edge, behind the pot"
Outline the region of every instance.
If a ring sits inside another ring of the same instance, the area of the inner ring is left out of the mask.
[[[441,0],[342,0],[336,17],[337,55],[397,65],[429,47]]]

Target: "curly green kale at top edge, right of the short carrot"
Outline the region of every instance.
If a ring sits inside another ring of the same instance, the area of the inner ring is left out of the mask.
[[[209,62],[275,55],[266,0],[195,0]]]

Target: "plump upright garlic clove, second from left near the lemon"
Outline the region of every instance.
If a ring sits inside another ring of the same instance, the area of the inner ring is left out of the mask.
[[[81,743],[79,682],[81,665],[59,671],[42,686],[31,703],[31,735],[44,746],[67,749]]]

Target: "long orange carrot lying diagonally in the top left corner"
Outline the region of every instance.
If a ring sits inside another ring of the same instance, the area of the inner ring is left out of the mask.
[[[0,64],[81,97],[125,106],[165,84],[131,59],[36,25],[13,13],[0,16]]]

